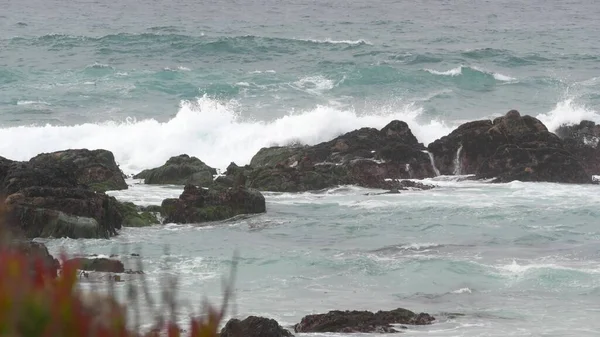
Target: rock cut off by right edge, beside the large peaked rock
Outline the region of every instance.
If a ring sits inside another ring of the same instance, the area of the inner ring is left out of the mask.
[[[564,148],[577,158],[588,174],[600,175],[600,124],[582,121],[576,125],[562,125],[556,134]]]

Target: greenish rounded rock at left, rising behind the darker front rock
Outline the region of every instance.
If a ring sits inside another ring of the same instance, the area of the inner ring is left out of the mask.
[[[112,152],[107,150],[65,150],[40,154],[29,163],[43,167],[48,163],[72,163],[75,166],[75,179],[81,185],[98,192],[127,189],[123,172],[115,162]],[[33,185],[32,185],[33,186]],[[44,186],[44,185],[36,185]],[[63,187],[63,186],[55,186]]]

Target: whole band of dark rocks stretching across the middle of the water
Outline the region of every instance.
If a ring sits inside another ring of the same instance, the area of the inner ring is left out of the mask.
[[[223,174],[182,154],[135,176],[146,184],[185,185],[178,199],[143,209],[106,195],[126,189],[106,150],[71,149],[18,162],[0,157],[7,223],[25,237],[109,238],[123,226],[203,223],[266,211],[259,191],[304,192],[358,185],[399,193],[434,186],[407,179],[472,175],[493,182],[593,183],[600,173],[600,125],[583,121],[556,134],[516,110],[462,124],[427,147],[405,122],[361,128],[312,146],[262,148]]]

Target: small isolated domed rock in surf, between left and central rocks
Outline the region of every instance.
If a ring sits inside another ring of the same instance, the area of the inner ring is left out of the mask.
[[[134,178],[144,179],[146,184],[209,186],[216,174],[216,169],[206,165],[200,159],[182,154],[171,157],[161,167],[142,171]]]

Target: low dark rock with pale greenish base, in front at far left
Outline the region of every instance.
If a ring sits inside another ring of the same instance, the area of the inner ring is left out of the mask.
[[[29,238],[108,238],[122,223],[115,198],[85,189],[28,187],[5,203],[7,224]]]

